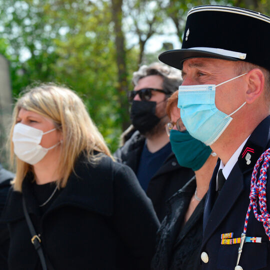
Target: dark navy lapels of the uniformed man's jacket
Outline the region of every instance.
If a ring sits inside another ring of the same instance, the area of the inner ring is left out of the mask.
[[[217,173],[217,168],[215,168],[215,173]],[[240,195],[241,191],[244,188],[243,183],[243,175],[239,168],[238,163],[234,165],[229,174],[228,178],[226,179],[216,201],[213,204],[212,209],[210,209],[209,216],[206,220],[205,217],[205,228],[203,232],[203,242],[202,245],[207,241],[207,239],[211,236],[211,234],[215,231],[218,225],[222,222],[225,216],[229,213],[231,207],[237,200],[238,196]],[[207,213],[209,211],[210,202],[214,198],[215,193],[215,177],[211,179],[211,189],[209,191],[209,196],[207,200],[207,205],[205,206]],[[205,212],[206,214],[206,212]]]

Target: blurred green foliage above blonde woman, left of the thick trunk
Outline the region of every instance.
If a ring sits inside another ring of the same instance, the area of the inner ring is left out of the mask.
[[[6,37],[0,39],[0,52],[10,61],[14,97],[33,81],[67,85],[83,98],[115,150],[121,133],[121,106],[108,3],[10,0],[0,4]]]

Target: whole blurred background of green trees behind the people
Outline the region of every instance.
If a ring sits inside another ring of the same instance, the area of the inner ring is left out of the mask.
[[[180,48],[186,13],[201,4],[270,14],[268,0],[0,0],[0,162],[12,103],[35,81],[78,92],[113,152],[129,125],[132,72]]]

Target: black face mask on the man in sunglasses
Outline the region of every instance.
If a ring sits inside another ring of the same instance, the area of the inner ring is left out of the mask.
[[[155,106],[155,101],[132,101],[130,118],[140,133],[144,134],[151,130],[160,121],[155,115]]]

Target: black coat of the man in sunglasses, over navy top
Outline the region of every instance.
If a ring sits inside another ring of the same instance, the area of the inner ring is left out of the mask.
[[[115,151],[114,157],[116,161],[128,165],[136,173],[144,143],[145,137],[139,131],[135,131],[131,138]],[[193,170],[180,166],[174,153],[171,152],[162,166],[152,176],[146,194],[152,200],[156,215],[160,221],[166,214],[166,200],[193,175]]]

